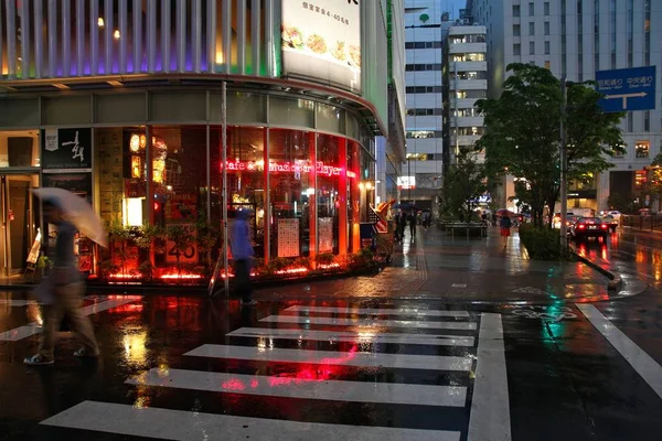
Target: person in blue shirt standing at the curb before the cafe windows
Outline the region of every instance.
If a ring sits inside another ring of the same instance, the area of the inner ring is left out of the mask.
[[[253,246],[250,245],[250,229],[247,222],[248,214],[248,211],[239,209],[229,232],[236,291],[242,295],[243,305],[257,303],[252,299],[250,260],[253,259]]]

